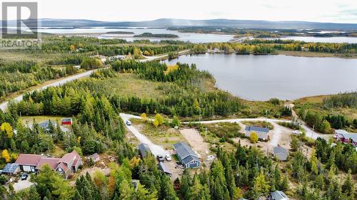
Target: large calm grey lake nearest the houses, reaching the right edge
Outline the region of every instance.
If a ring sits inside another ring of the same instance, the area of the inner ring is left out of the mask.
[[[357,59],[295,56],[181,56],[166,61],[196,63],[216,86],[247,100],[293,100],[357,90]]]

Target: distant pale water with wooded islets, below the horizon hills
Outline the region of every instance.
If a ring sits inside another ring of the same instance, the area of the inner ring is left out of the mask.
[[[134,32],[134,34],[114,34],[107,33],[109,31],[127,31]],[[206,34],[206,33],[180,33],[178,31],[167,30],[166,28],[142,28],[142,27],[120,27],[120,28],[109,28],[109,27],[89,27],[89,28],[61,28],[61,27],[43,27],[39,29],[42,33],[61,33],[61,34],[79,34],[79,35],[89,35],[94,34],[99,38],[123,38],[127,41],[134,41],[134,35],[141,33],[167,33],[178,35],[179,38],[146,38],[150,41],[161,41],[161,40],[179,40],[179,41],[190,41],[192,43],[211,43],[211,42],[227,42],[233,39],[233,35],[225,34]],[[326,43],[357,43],[357,37],[303,37],[303,36],[289,36],[282,37],[281,39],[286,40],[296,40],[296,41],[306,41],[306,42],[326,42]]]

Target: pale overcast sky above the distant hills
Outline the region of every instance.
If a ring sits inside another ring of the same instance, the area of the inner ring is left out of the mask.
[[[357,23],[357,0],[37,1],[39,1],[39,18],[52,19],[99,21],[146,21],[161,18],[252,19]]]

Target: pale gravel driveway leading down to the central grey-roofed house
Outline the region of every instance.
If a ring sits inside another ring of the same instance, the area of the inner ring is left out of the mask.
[[[124,122],[126,122],[127,120],[130,120],[131,118],[141,119],[141,117],[139,117],[139,116],[127,115],[124,113],[120,113],[120,117],[124,120]],[[161,147],[157,144],[154,144],[154,142],[151,142],[151,140],[149,140],[148,137],[141,134],[138,130],[136,130],[136,128],[133,125],[131,125],[131,126],[126,125],[126,128],[128,128],[128,130],[130,130],[130,132],[133,133],[133,135],[139,140],[139,142],[148,144],[151,152],[154,154],[155,157],[156,157],[156,155],[159,155],[159,154],[165,155],[168,153],[163,147]]]

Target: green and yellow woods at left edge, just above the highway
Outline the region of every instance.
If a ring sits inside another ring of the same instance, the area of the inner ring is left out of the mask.
[[[53,68],[29,60],[0,63],[0,100],[11,93],[25,90],[46,80],[76,73],[76,69]]]

